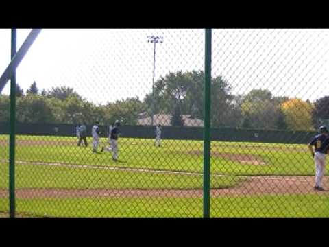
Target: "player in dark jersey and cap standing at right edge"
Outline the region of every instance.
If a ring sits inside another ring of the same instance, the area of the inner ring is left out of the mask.
[[[329,133],[326,126],[321,126],[319,130],[320,134],[313,137],[310,143],[308,143],[308,148],[315,162],[314,189],[317,191],[324,191],[324,188],[322,187],[322,178],[326,168],[326,154],[328,153],[329,148]],[[313,150],[313,146],[315,147],[315,151]]]

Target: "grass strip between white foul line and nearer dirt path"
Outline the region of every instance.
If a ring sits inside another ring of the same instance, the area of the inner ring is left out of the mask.
[[[8,174],[8,165],[0,165],[0,174]],[[0,179],[0,189],[8,188],[8,176]],[[202,175],[162,174],[103,170],[51,165],[16,165],[16,189],[202,189]],[[212,188],[232,187],[241,181],[236,176],[212,176]]]

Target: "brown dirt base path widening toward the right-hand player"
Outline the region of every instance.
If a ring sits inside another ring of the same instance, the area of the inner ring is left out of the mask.
[[[211,196],[326,194],[313,190],[313,176],[249,176],[236,187],[212,189]],[[328,185],[329,179],[324,178]],[[0,197],[8,196],[0,190]],[[17,198],[153,198],[202,197],[201,189],[16,189]]]

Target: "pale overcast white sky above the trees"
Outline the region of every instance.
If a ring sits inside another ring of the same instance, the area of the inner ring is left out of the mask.
[[[18,30],[21,46],[30,30]],[[17,69],[26,91],[71,86],[106,104],[151,91],[154,45],[156,80],[175,71],[204,69],[204,30],[54,30],[40,32]],[[232,93],[269,89],[314,101],[329,95],[329,30],[212,30],[212,76],[222,75]],[[0,70],[10,61],[10,30],[0,30]],[[9,84],[3,93],[9,93]]]

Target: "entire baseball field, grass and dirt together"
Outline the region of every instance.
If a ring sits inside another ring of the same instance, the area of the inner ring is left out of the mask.
[[[16,137],[21,217],[202,217],[202,141],[119,140],[119,161],[75,137]],[[101,146],[106,139],[101,140]],[[0,213],[8,213],[8,136],[0,137]],[[328,175],[328,173],[326,173]],[[329,217],[306,145],[211,143],[211,217]],[[324,187],[329,180],[324,178]],[[1,216],[0,216],[1,217]]]

